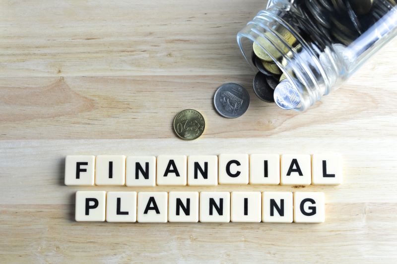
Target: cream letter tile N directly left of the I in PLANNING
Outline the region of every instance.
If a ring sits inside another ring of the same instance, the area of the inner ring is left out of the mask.
[[[229,192],[200,192],[200,222],[230,222]]]

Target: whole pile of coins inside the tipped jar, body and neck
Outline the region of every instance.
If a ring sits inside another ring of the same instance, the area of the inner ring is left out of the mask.
[[[319,56],[326,47],[350,45],[397,4],[395,0],[294,0],[292,5],[294,11],[283,13],[282,19],[311,44]],[[289,56],[287,44],[296,53],[302,51],[302,45],[290,31],[284,27],[275,30],[282,40],[264,32],[264,39],[270,39],[272,43],[262,40],[265,51],[254,42],[252,52],[252,62],[259,70],[253,81],[254,92],[261,100],[270,103],[274,102],[273,91],[277,85],[290,84],[268,54],[282,58],[275,48],[278,46],[281,50],[285,48],[284,52]],[[296,100],[296,104],[298,102]]]

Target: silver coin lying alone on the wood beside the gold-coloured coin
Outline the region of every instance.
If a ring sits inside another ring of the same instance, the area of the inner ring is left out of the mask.
[[[229,82],[218,87],[214,106],[219,115],[226,118],[242,116],[250,105],[250,95],[240,84]]]

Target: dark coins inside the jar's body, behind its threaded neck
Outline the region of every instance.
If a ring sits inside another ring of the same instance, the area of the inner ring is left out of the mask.
[[[302,35],[319,47],[330,42],[348,46],[396,6],[396,1],[296,0],[293,5],[302,16],[291,16],[287,22]]]

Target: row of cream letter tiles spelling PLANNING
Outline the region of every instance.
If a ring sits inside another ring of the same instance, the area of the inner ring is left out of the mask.
[[[325,221],[319,192],[76,192],[76,221],[273,222]]]

